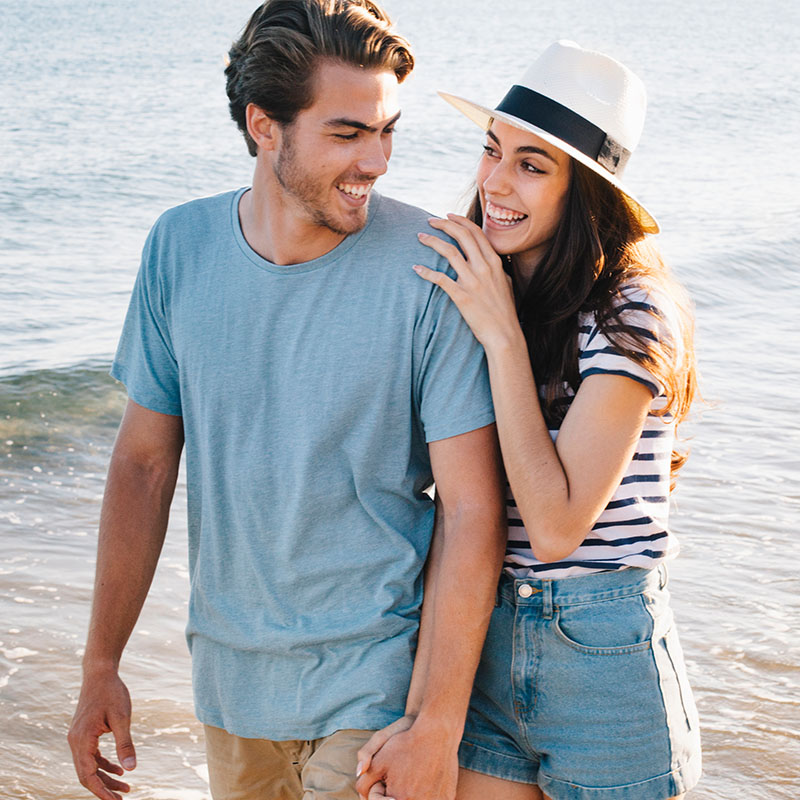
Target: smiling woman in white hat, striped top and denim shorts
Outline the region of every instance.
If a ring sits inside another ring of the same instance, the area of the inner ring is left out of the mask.
[[[467,217],[430,223],[460,250],[420,234],[457,282],[414,269],[486,350],[509,483],[459,800],[682,796],[699,733],[663,564],[695,368],[658,225],[620,180],[644,87],[558,42],[495,110],[443,97],[486,129],[485,152]]]

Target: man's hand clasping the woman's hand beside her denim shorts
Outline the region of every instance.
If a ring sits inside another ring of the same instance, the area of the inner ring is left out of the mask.
[[[408,718],[402,717],[393,725],[404,720]],[[374,800],[382,791],[394,800],[453,800],[458,783],[460,731],[455,734],[421,720],[395,733],[372,755],[369,766],[363,767],[356,783],[359,795],[364,800]],[[364,746],[365,758],[370,744],[371,741]],[[361,756],[360,751],[359,760]]]

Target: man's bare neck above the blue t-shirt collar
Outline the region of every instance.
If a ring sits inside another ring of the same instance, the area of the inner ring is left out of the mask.
[[[253,188],[239,201],[239,224],[250,247],[280,266],[313,261],[345,238],[314,224],[298,203],[280,189],[277,181],[265,179],[258,167],[253,175]]]

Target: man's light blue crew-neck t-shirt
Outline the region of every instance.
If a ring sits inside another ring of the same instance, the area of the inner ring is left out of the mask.
[[[427,442],[494,421],[483,350],[380,197],[326,255],[277,266],[244,189],[148,237],[112,375],[183,417],[199,719],[314,739],[403,713],[433,504]],[[451,271],[452,274],[452,271]]]

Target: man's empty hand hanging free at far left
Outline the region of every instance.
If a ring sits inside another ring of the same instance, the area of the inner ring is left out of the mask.
[[[136,766],[130,727],[131,699],[116,670],[87,673],[67,738],[78,780],[101,800],[121,800],[118,792],[130,791],[127,783],[108,774],[123,775]],[[104,733],[114,735],[122,766],[100,754]]]

